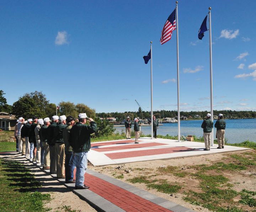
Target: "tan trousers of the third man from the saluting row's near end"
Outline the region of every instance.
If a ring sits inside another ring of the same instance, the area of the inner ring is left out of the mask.
[[[65,177],[65,144],[55,143],[57,177]]]

